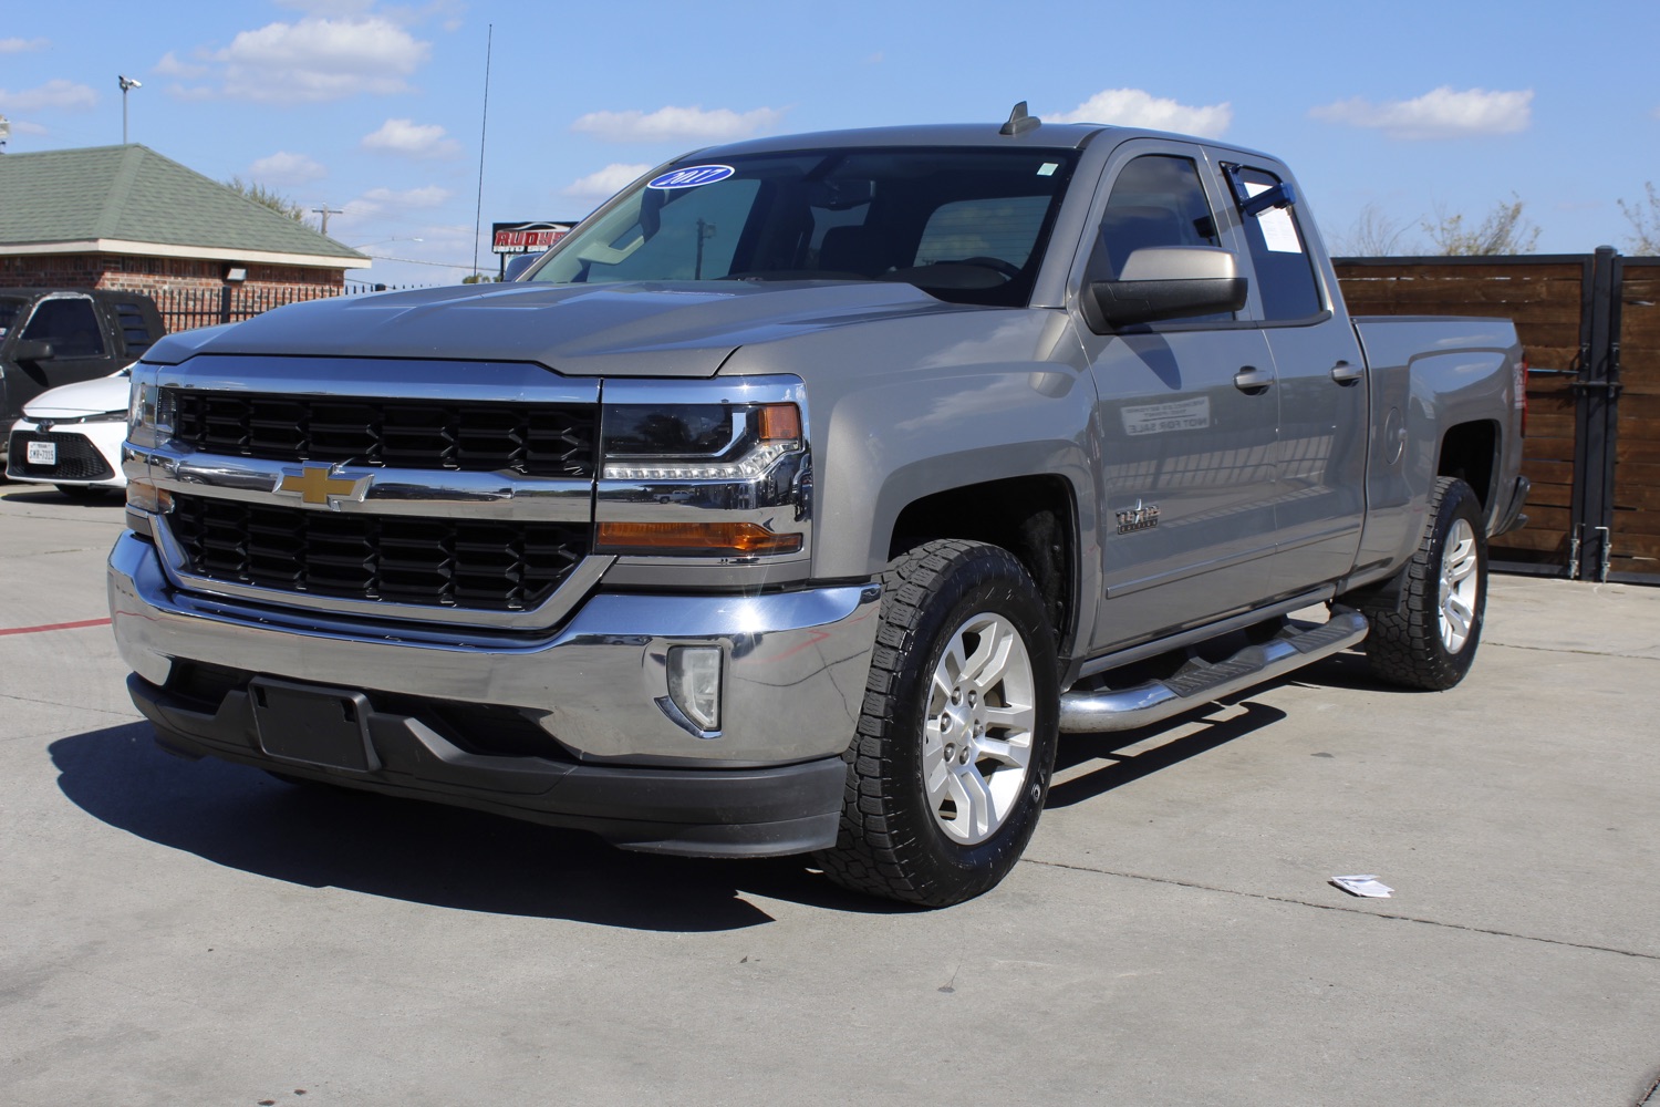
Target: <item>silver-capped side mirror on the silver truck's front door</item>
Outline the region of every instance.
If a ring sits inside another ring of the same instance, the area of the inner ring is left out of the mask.
[[[1092,280],[1084,310],[1106,334],[1160,319],[1192,319],[1245,307],[1250,282],[1233,254],[1213,246],[1149,246],[1129,256],[1117,280]]]

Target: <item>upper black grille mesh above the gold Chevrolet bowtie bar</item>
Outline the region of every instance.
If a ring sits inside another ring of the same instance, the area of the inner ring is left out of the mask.
[[[591,403],[443,403],[168,388],[173,436],[208,453],[591,478]]]

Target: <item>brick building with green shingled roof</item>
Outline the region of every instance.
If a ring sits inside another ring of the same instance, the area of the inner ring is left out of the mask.
[[[0,156],[0,285],[124,289],[158,302],[211,289],[286,302],[335,295],[347,269],[369,266],[146,146]]]

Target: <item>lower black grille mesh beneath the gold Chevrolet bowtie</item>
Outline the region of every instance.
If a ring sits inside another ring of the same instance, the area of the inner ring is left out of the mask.
[[[269,508],[176,495],[189,568],[216,581],[428,607],[523,611],[588,554],[588,526]]]

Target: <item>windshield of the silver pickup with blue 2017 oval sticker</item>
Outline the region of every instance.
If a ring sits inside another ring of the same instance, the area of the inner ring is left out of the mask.
[[[689,161],[576,227],[526,280],[900,280],[1024,305],[1076,154],[835,149]]]

